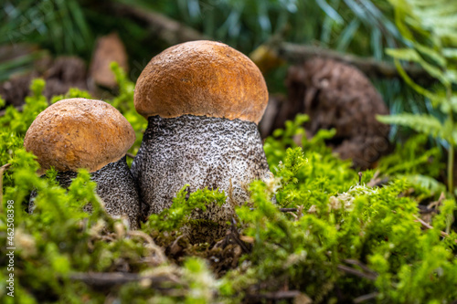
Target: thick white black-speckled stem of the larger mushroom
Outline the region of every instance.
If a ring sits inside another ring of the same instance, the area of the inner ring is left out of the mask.
[[[233,204],[249,200],[249,183],[269,177],[254,122],[193,115],[151,116],[148,121],[132,166],[148,215],[168,208],[176,192],[189,184],[191,191],[225,191],[227,202],[220,210],[193,215],[224,223],[233,215]]]

